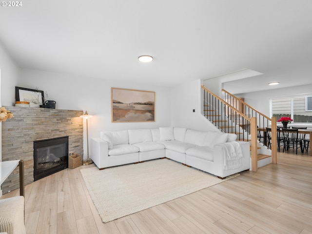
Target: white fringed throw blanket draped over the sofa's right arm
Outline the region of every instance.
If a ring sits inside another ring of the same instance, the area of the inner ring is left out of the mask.
[[[224,150],[224,170],[237,169],[242,166],[242,149],[236,141],[220,144]]]

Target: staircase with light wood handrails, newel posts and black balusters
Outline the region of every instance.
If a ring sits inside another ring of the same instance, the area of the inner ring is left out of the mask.
[[[272,139],[277,138],[276,118],[265,116],[226,90],[222,90],[224,97],[220,98],[205,86],[201,88],[203,91],[202,114],[222,132],[236,134],[237,140],[250,142],[252,171],[277,162],[277,145],[272,144],[272,149],[268,149],[257,139],[257,131],[265,129],[269,123],[272,123]]]

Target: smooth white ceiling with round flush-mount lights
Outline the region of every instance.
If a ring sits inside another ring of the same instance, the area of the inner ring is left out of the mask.
[[[234,94],[312,83],[312,0],[21,1],[0,7],[21,68],[163,86],[263,73],[228,83]]]

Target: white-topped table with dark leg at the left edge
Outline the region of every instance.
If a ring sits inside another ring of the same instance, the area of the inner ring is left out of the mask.
[[[14,169],[20,166],[20,195],[25,195],[24,184],[24,161],[23,160],[11,160],[0,162],[0,185],[4,180],[14,171]]]

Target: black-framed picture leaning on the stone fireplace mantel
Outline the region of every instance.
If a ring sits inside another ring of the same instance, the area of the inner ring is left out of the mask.
[[[29,101],[30,107],[39,107],[44,103],[44,94],[42,90],[15,86],[15,100]]]

